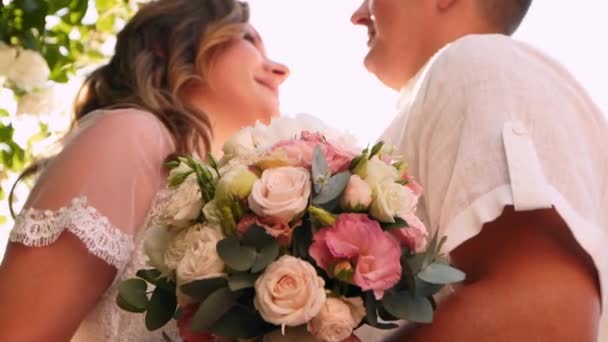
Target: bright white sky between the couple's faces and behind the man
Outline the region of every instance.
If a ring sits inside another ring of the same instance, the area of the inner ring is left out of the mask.
[[[366,33],[350,24],[356,0],[250,0],[270,56],[291,68],[285,114],[309,113],[374,141],[395,113],[396,94],[363,67]],[[608,115],[608,3],[535,0],[516,38],[563,63]],[[602,43],[604,42],[604,43]]]

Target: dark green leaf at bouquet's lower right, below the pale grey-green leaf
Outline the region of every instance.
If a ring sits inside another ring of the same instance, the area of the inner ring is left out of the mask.
[[[382,306],[391,315],[410,322],[433,321],[433,306],[429,300],[424,297],[412,297],[409,292],[386,292],[382,297]]]

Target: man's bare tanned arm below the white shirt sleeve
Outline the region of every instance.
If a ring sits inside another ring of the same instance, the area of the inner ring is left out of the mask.
[[[466,282],[439,305],[433,324],[393,340],[597,340],[597,271],[554,210],[508,207],[451,256]]]

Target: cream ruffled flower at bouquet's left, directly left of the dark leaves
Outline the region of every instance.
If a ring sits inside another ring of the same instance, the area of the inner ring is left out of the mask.
[[[216,248],[217,243],[222,239],[224,239],[222,233],[207,227],[188,235],[188,248],[184,258],[177,265],[179,285],[225,275],[224,262],[217,254]]]

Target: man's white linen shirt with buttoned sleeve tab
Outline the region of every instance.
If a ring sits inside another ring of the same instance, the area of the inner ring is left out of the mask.
[[[462,38],[404,87],[382,139],[425,187],[420,215],[445,252],[507,205],[555,208],[593,259],[606,312],[608,124],[559,63],[506,36]]]

